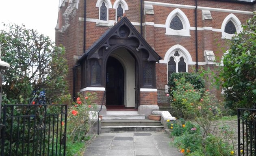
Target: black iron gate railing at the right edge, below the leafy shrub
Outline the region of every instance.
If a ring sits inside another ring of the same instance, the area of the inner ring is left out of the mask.
[[[256,109],[237,112],[238,156],[256,156]]]

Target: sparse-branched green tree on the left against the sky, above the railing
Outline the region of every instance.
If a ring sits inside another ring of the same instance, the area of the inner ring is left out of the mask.
[[[28,104],[41,90],[54,101],[67,94],[65,49],[24,25],[6,27],[0,31],[1,58],[10,64],[3,72],[3,103]]]

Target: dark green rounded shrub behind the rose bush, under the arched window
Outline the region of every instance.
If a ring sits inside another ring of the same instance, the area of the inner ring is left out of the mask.
[[[185,78],[186,82],[189,82],[194,86],[195,89],[204,88],[204,79],[195,73],[172,73],[169,77],[168,86],[169,93],[171,94],[170,89],[176,89],[176,80],[180,80],[181,78]]]

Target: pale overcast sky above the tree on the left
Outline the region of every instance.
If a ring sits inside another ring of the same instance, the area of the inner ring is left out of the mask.
[[[55,41],[59,0],[0,0],[0,29],[2,22],[25,24]]]

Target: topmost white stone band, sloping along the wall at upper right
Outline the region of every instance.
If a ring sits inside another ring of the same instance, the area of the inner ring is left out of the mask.
[[[175,8],[185,8],[185,9],[195,9],[194,5],[182,5],[182,4],[172,4],[172,3],[163,3],[163,2],[150,2],[150,1],[145,1],[144,4],[152,4],[152,5],[175,7]],[[227,12],[227,13],[241,13],[241,14],[253,15],[253,11],[212,8],[212,7],[204,7],[204,6],[197,6],[197,9],[199,9],[199,10],[209,10],[209,11],[218,11],[218,12]]]

